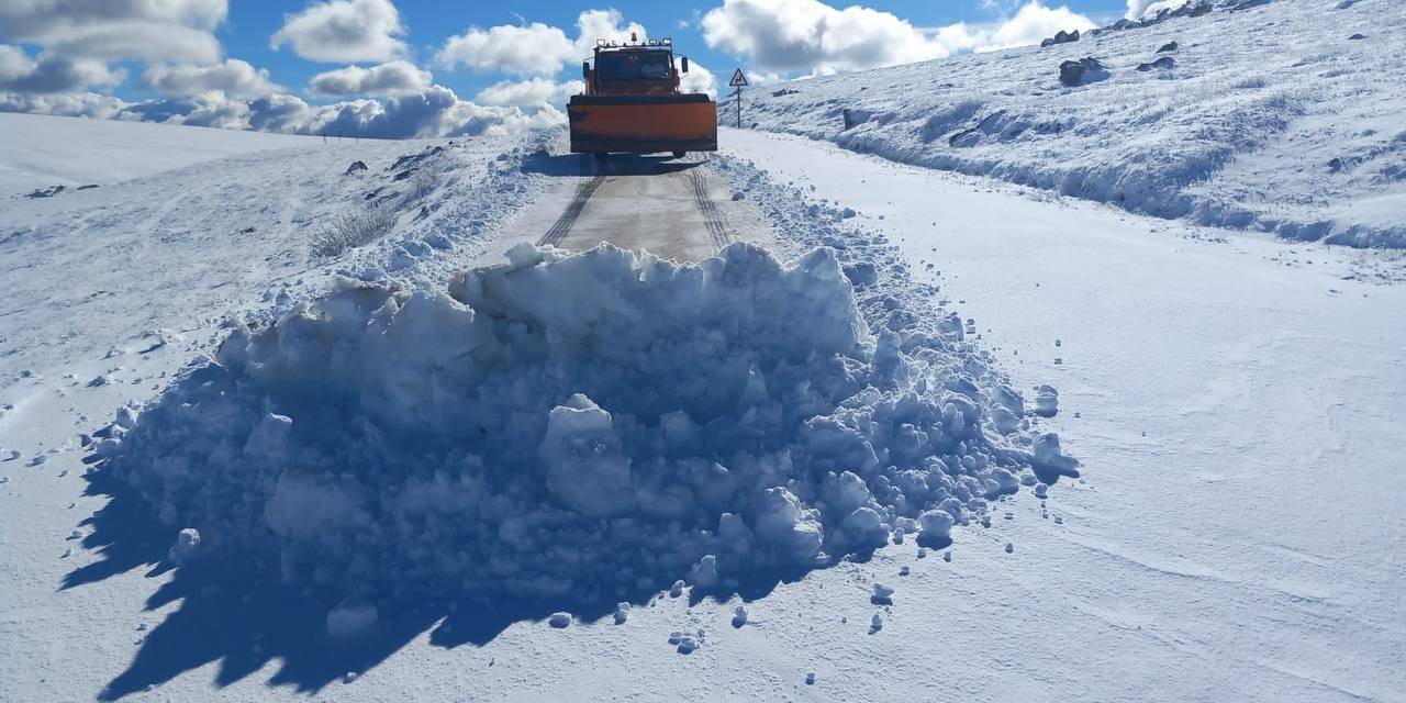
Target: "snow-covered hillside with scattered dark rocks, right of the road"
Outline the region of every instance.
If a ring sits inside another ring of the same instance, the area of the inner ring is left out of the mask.
[[[1406,4],[1208,7],[752,90],[744,121],[1156,217],[1406,247]],[[1108,77],[1062,84],[1090,56]]]

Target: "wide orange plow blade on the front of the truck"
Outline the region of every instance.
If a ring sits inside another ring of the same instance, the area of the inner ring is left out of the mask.
[[[716,152],[717,103],[704,94],[572,96],[572,153]]]

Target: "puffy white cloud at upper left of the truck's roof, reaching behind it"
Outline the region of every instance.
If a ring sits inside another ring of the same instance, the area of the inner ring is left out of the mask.
[[[624,24],[616,10],[586,10],[576,17],[576,38],[541,22],[502,24],[450,37],[436,56],[444,67],[503,72],[516,76],[554,76],[562,66],[591,55],[596,39],[627,39],[630,32],[647,37],[638,22]]]

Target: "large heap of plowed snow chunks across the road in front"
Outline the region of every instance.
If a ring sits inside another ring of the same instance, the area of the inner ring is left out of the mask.
[[[725,591],[1073,472],[960,325],[872,335],[830,249],[509,259],[236,329],[107,470],[205,558],[380,602]]]

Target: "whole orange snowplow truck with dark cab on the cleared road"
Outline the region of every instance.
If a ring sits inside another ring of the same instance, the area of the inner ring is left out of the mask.
[[[717,103],[679,93],[689,59],[673,67],[672,39],[598,39],[581,72],[586,90],[567,104],[574,153],[717,150]]]

